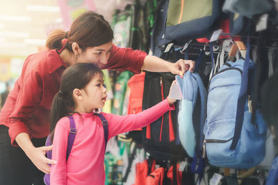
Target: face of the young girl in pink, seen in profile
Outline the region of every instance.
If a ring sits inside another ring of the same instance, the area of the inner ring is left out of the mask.
[[[83,96],[82,107],[85,112],[92,112],[94,109],[104,107],[107,94],[104,87],[104,80],[100,74],[96,74],[92,80],[81,89]]]

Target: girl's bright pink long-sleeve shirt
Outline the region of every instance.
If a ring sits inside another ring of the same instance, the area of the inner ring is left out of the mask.
[[[167,99],[154,107],[138,114],[117,116],[104,114],[108,121],[108,139],[117,134],[129,132],[156,121],[165,112],[174,109],[170,107]],[[61,118],[56,125],[54,134],[52,159],[57,161],[51,166],[51,184],[104,184],[104,128],[101,120],[93,113],[74,114],[76,124],[76,137],[72,151],[66,162],[67,138],[70,130],[70,120]]]

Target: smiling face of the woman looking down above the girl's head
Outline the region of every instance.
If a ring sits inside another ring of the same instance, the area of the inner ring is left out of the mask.
[[[113,45],[111,41],[101,46],[88,47],[78,56],[77,62],[92,63],[97,67],[102,68],[108,62],[112,46]]]

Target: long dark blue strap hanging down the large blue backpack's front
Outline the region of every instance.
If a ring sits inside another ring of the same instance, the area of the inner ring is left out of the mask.
[[[248,71],[249,71],[249,62],[250,62],[250,44],[249,44],[249,37],[247,38],[247,52],[243,67],[243,74],[241,76],[241,85],[240,91],[238,95],[238,108],[236,109],[236,125],[235,125],[235,132],[234,138],[231,142],[230,150],[236,150],[236,145],[238,144],[238,140],[240,138],[241,129],[243,127],[243,116],[245,111],[245,102],[247,98],[247,85],[248,85]]]

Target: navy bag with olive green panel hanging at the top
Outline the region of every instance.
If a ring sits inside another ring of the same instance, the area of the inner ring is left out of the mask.
[[[152,53],[158,57],[165,44],[211,35],[219,27],[222,12],[219,0],[209,4],[161,0],[158,10],[151,43]]]

